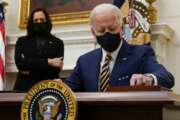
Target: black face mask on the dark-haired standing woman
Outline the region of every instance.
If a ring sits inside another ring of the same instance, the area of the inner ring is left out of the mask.
[[[49,34],[47,23],[33,23],[33,31],[38,35]]]

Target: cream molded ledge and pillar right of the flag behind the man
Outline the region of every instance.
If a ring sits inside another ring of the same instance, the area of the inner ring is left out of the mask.
[[[157,60],[167,66],[167,45],[174,37],[174,30],[167,24],[155,24],[151,26],[151,45],[155,50]]]

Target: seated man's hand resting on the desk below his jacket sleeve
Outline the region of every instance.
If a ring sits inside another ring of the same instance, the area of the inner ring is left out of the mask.
[[[154,79],[151,76],[147,76],[146,74],[133,74],[130,79],[130,86],[153,86]]]

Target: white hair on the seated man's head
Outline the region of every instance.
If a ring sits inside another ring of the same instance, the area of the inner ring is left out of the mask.
[[[121,10],[118,7],[116,7],[115,5],[103,3],[103,4],[97,5],[91,11],[90,16],[89,16],[90,25],[92,26],[95,16],[109,13],[109,12],[114,12],[117,15],[117,18],[118,18],[120,24],[122,24],[123,16],[122,16]]]

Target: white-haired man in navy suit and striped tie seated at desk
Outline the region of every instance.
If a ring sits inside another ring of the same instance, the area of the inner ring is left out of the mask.
[[[106,91],[108,86],[171,88],[174,77],[155,59],[147,45],[129,45],[121,37],[122,15],[111,4],[96,6],[90,14],[92,34],[101,48],[79,57],[65,83],[74,91]]]

